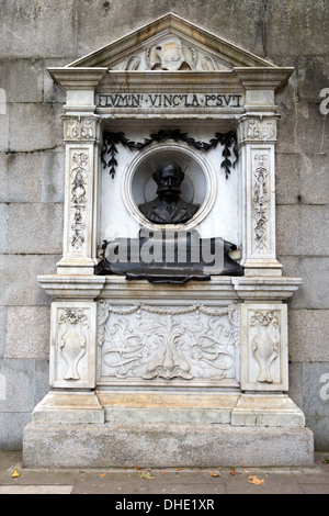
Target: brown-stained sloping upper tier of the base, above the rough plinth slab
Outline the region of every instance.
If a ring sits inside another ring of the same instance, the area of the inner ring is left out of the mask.
[[[303,412],[286,394],[164,394],[49,392],[33,412],[33,423],[229,424],[304,428]]]

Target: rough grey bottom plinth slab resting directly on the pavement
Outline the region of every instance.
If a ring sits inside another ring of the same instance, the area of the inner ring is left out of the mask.
[[[227,424],[36,424],[24,430],[27,468],[311,467],[308,428]]]

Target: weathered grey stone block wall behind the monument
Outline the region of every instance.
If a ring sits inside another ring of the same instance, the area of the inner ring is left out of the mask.
[[[277,94],[277,255],[284,274],[303,278],[290,311],[291,395],[316,448],[329,449],[329,115],[319,109],[329,88],[327,0],[0,2],[1,449],[21,448],[23,427],[48,391],[50,300],[36,277],[55,272],[61,256],[65,94],[47,67],[167,12],[295,67]]]

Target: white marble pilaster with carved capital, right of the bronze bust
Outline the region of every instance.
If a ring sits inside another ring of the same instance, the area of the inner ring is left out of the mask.
[[[251,114],[239,122],[242,171],[242,263],[246,276],[277,276],[275,248],[276,116]]]

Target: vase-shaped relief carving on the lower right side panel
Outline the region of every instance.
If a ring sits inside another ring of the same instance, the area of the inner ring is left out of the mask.
[[[259,366],[258,382],[273,383],[271,364],[279,356],[280,325],[279,316],[271,311],[257,311],[250,319],[254,330],[252,354]]]

